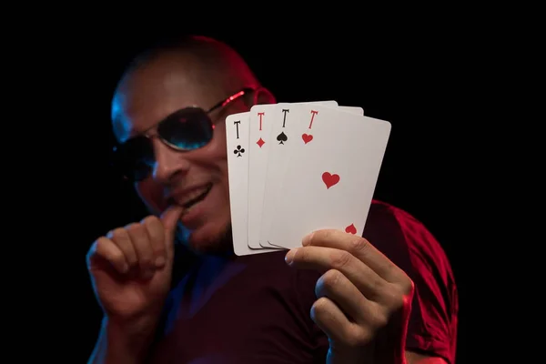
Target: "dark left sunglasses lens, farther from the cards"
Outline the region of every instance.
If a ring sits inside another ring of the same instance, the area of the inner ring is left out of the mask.
[[[137,136],[116,148],[116,165],[124,176],[132,180],[146,178],[154,164],[154,149],[150,140]]]

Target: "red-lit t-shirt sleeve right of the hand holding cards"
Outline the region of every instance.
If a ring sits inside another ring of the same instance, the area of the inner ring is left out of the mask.
[[[455,362],[459,298],[440,243],[407,212],[377,201],[363,237],[413,280],[406,349]]]

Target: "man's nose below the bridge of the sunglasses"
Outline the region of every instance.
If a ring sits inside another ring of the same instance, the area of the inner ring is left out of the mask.
[[[189,162],[182,156],[182,152],[168,147],[166,144],[153,138],[155,163],[153,177],[157,182],[167,185],[175,177],[187,174]]]

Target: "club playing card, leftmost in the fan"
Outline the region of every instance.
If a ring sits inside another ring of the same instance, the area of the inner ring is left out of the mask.
[[[249,113],[226,117],[227,177],[233,249],[238,256],[278,251],[248,248],[248,123]]]

